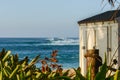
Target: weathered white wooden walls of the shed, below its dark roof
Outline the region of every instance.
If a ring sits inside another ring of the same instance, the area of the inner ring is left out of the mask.
[[[86,50],[93,49],[94,46],[96,49],[99,49],[99,55],[102,57],[103,60],[105,53],[107,54],[107,64],[110,64],[111,58],[115,53],[116,49],[118,48],[118,23],[117,21],[106,21],[85,23],[79,25],[80,25],[79,61],[81,73],[85,75],[86,61],[84,54],[86,53]],[[118,58],[118,51],[116,52],[115,58]]]

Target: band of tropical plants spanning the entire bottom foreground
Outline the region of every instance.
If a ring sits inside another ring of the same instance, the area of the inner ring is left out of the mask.
[[[40,59],[38,55],[31,61],[28,57],[20,60],[17,54],[3,49],[0,52],[0,80],[91,80],[91,67],[86,76],[80,73],[80,68],[74,69],[75,75],[69,75],[69,70],[64,71],[57,64],[56,56],[57,50],[54,50],[50,58]],[[40,63],[41,67],[36,67],[36,63]],[[107,66],[105,57],[105,62],[94,80],[120,80],[119,69],[112,75],[108,75],[108,71],[110,67]]]

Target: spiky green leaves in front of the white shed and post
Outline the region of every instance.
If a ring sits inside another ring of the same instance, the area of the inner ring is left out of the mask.
[[[86,77],[82,76],[79,69],[77,70],[74,69],[76,72],[76,76],[74,77],[73,80],[91,80],[90,69],[91,67],[89,67]],[[120,80],[120,70],[117,70],[113,75],[109,75],[108,77],[106,77],[108,71],[109,71],[109,67],[107,66],[106,56],[105,56],[105,62],[100,67],[100,70],[96,74],[94,80]]]

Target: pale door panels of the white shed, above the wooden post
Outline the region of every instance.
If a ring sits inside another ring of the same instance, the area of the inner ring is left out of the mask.
[[[107,27],[97,27],[87,29],[87,49],[99,49],[99,54],[103,58],[107,52],[108,46],[108,30]]]

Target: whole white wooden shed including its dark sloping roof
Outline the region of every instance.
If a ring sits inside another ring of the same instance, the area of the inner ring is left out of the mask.
[[[113,54],[120,65],[120,11],[107,11],[90,18],[78,21],[80,51],[79,62],[81,73],[86,74],[86,59],[84,54],[90,49],[99,49],[99,55],[104,59],[107,53],[107,64],[110,64]],[[115,67],[118,67],[115,66]]]

